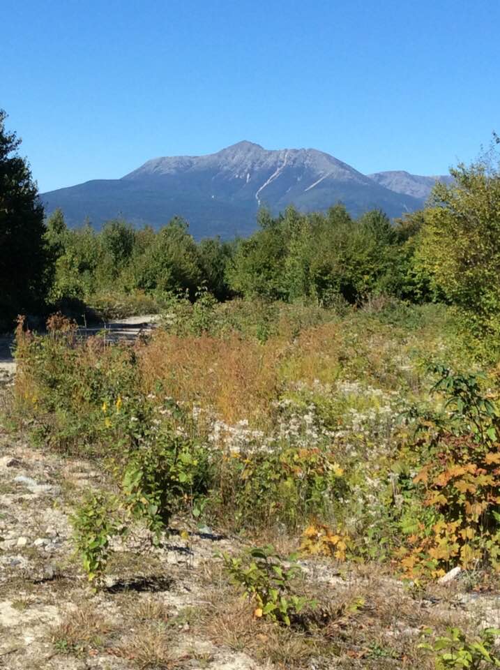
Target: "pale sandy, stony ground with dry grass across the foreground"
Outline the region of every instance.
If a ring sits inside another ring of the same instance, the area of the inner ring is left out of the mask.
[[[303,585],[328,604],[328,623],[321,639],[277,630],[252,618],[214,558],[243,542],[210,528],[174,532],[158,549],[138,530],[116,544],[95,593],[70,516],[84,491],[105,486],[95,463],[34,448],[0,424],[0,668],[419,667],[424,626],[500,625],[500,597],[474,590],[474,575],[419,589],[372,567],[304,560]]]

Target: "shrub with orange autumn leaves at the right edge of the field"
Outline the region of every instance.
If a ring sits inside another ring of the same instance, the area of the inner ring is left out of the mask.
[[[432,392],[444,394],[444,411],[418,426],[423,464],[414,478],[430,514],[411,528],[402,563],[409,573],[444,574],[453,563],[498,568],[500,412],[479,375],[453,375],[441,365],[434,372]]]

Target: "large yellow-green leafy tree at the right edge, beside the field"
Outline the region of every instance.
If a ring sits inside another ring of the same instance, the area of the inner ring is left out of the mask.
[[[500,335],[500,172],[489,158],[450,170],[423,213],[418,261],[469,329]]]

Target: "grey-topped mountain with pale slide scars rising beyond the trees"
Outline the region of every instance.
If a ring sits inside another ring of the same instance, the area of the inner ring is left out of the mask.
[[[317,149],[268,151],[243,141],[207,156],[153,158],[121,179],[86,181],[41,198],[47,214],[61,207],[69,225],[89,218],[100,228],[123,216],[159,228],[179,215],[197,239],[215,234],[230,238],[255,230],[263,205],[277,214],[288,204],[300,211],[324,211],[340,201],[354,216],[379,207],[391,218],[421,207],[423,189],[418,191],[408,179],[405,191],[402,177],[384,177],[391,174],[407,175],[367,176]]]

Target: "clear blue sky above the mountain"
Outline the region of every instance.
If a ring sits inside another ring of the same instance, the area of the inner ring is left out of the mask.
[[[2,0],[40,191],[239,140],[446,172],[500,132],[499,0]]]

